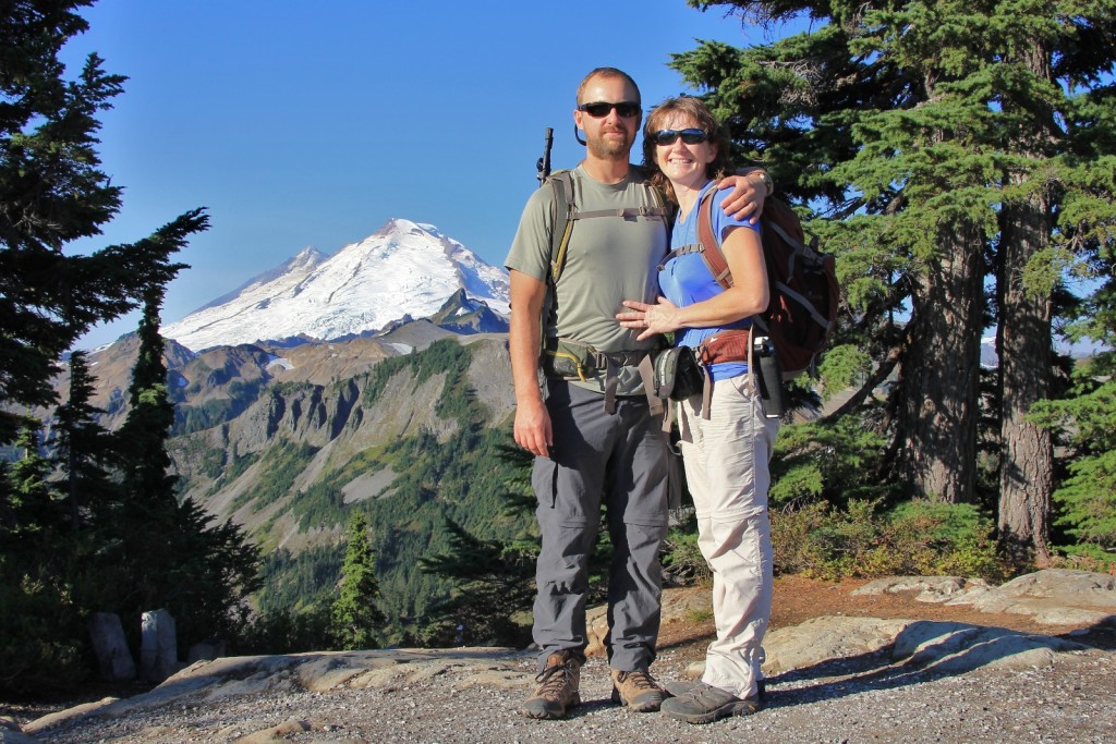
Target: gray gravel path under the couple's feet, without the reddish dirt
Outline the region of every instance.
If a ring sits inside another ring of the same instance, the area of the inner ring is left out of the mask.
[[[666,651],[662,679],[687,659]],[[401,665],[400,668],[407,665]],[[483,669],[479,674],[479,669]],[[760,713],[704,726],[636,714],[608,702],[600,658],[583,670],[585,703],[565,721],[516,709],[532,659],[493,656],[477,665],[422,665],[392,684],[300,689],[292,679],[259,694],[186,700],[45,731],[52,744],[183,742],[1116,742],[1112,653],[1058,654],[1043,667],[981,668],[954,676],[897,666],[884,654],[826,661],[770,680]],[[3,741],[0,736],[0,741]]]

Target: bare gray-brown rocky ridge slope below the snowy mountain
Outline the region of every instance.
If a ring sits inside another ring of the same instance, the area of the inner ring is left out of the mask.
[[[402,338],[405,329],[397,332]],[[471,361],[465,381],[485,410],[485,423],[506,422],[513,403],[510,374],[492,374],[508,369],[504,339],[481,335],[451,342],[468,344]],[[406,368],[382,380],[369,399],[375,378],[367,373],[377,355],[386,356],[382,342],[354,339],[300,346],[272,357],[262,365],[267,384],[241,413],[172,439],[172,458],[186,484],[184,495],[205,504],[219,519],[243,524],[270,548],[296,550],[319,540],[299,529],[290,502],[324,477],[339,490],[345,504],[387,495],[394,479],[389,466],[379,466],[377,455],[388,444],[422,434],[445,442],[461,424],[439,413],[446,373],[419,381]],[[257,373],[261,366],[251,369]],[[181,410],[189,417],[189,406]],[[282,492],[261,496],[273,482],[276,453],[285,448],[298,448],[305,456],[286,461],[297,464],[288,465],[294,472],[283,480]],[[344,521],[328,525],[328,531],[336,533],[343,525]]]

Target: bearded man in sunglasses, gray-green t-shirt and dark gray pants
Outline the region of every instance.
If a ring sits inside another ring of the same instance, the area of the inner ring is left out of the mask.
[[[539,685],[522,707],[533,718],[560,718],[580,703],[588,562],[602,505],[613,545],[605,640],[613,700],[648,712],[665,696],[648,668],[661,612],[667,454],[639,370],[655,341],[637,340],[638,331],[622,328],[615,315],[625,299],[657,298],[667,219],[662,196],[628,163],[642,123],[635,81],[615,68],[593,70],[578,87],[574,122],[586,156],[567,196],[585,219],[575,223],[561,276],[548,287],[551,234],[562,220],[550,187],[528,201],[506,262],[514,436],[536,455],[542,535],[532,629]],[[752,211],[751,184],[738,191],[732,209]]]

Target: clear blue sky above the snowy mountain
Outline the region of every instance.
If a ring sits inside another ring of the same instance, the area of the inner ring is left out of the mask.
[[[211,229],[180,254],[192,268],[169,288],[164,321],[391,218],[433,223],[502,265],[545,128],[555,167],[581,157],[571,112],[588,70],[628,71],[647,108],[695,93],[666,64],[696,39],[772,38],[684,0],[102,0],[85,16],[67,75],[96,51],[129,79],[100,132],[124,206],[76,248],[210,211]],[[134,327],[129,317],[81,346]]]

